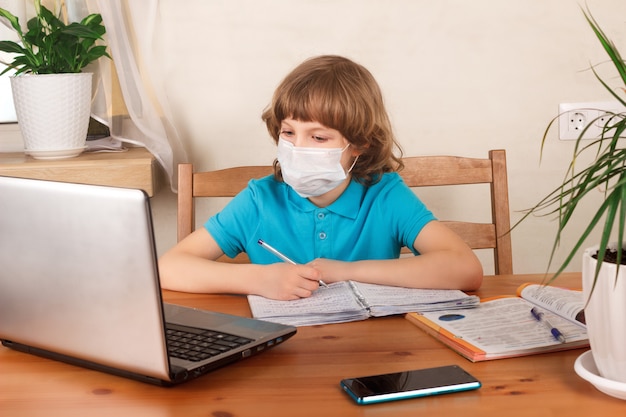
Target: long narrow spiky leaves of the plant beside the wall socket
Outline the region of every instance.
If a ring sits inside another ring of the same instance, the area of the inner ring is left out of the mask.
[[[608,54],[615,70],[621,78],[623,86],[621,92],[616,92],[611,88],[592,66],[592,71],[598,81],[606,88],[609,93],[615,97],[623,106],[626,106],[624,93],[626,93],[626,64],[622,59],[619,50],[615,44],[602,31],[596,20],[593,18],[589,10],[583,10],[583,14],[596,37],[602,44],[605,52]],[[558,277],[576,256],[576,252],[584,244],[585,239],[599,225],[602,225],[602,234],[600,237],[599,249],[597,254],[597,267],[594,277],[594,285],[597,282],[600,267],[605,256],[612,252],[609,248],[611,236],[616,232],[616,240],[622,244],[618,244],[616,248],[616,261],[618,265],[624,260],[624,226],[626,223],[626,149],[624,149],[624,131],[626,130],[626,115],[624,113],[609,113],[603,115],[606,122],[602,127],[602,133],[589,143],[583,143],[582,137],[585,131],[581,132],[576,140],[572,161],[567,169],[563,183],[554,191],[543,198],[535,207],[528,210],[524,220],[528,215],[533,213],[542,213],[543,215],[557,215],[558,228],[557,234],[552,247],[549,265],[552,264],[557,248],[561,243],[561,236],[568,225],[572,215],[574,214],[578,204],[591,192],[599,188],[604,192],[604,200],[595,215],[589,221],[589,224],[582,232],[578,241],[571,248],[569,254],[562,262],[556,273],[552,275],[550,281]],[[546,138],[550,128],[558,119],[553,119],[548,125],[543,136],[541,149],[545,145]],[[599,119],[597,119],[599,120]],[[593,120],[589,125],[597,122]],[[604,119],[603,119],[604,120]],[[582,154],[595,153],[593,161],[584,169],[578,171],[576,161]],[[597,194],[594,194],[594,198]],[[604,219],[604,220],[603,220]],[[522,221],[520,220],[520,222]],[[603,223],[603,224],[602,224]],[[519,222],[517,223],[519,224]],[[617,277],[616,277],[617,278]],[[593,292],[593,288],[592,288]]]

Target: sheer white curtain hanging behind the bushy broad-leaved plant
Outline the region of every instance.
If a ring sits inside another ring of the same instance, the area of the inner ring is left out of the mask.
[[[58,10],[59,3],[42,1],[51,10]],[[97,80],[93,117],[109,127],[113,138],[148,149],[175,190],[176,166],[187,155],[172,123],[160,72],[165,57],[153,42],[161,18],[159,0],[65,0],[65,5],[70,21],[100,13],[107,30],[113,61],[103,58],[88,69]],[[0,0],[0,7],[18,15],[23,25],[33,13],[32,0]],[[114,93],[117,88],[121,97]]]

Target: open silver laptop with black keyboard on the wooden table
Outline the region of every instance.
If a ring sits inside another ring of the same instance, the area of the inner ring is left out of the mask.
[[[3,345],[173,385],[295,333],[163,303],[143,191],[0,177]]]

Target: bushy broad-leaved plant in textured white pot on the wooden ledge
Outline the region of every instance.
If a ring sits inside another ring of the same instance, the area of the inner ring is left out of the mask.
[[[109,57],[106,46],[97,44],[105,33],[102,17],[91,14],[66,24],[60,10],[54,14],[41,0],[34,5],[36,15],[24,31],[15,15],[0,8],[0,18],[19,38],[0,41],[0,51],[13,55],[0,75],[15,72],[11,88],[26,153],[40,159],[76,156],[85,148],[91,114],[92,74],[82,71]]]

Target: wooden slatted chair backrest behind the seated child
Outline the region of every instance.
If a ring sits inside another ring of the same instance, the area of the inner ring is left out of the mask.
[[[457,156],[416,156],[403,158],[400,175],[409,187],[489,184],[491,223],[442,220],[472,249],[493,249],[496,274],[513,273],[506,153],[492,150],[489,158]],[[273,172],[271,166],[242,166],[218,171],[193,172],[191,164],[178,166],[178,240],[195,227],[195,197],[234,197],[252,178]],[[406,251],[405,251],[406,252]],[[246,262],[237,257],[229,262]]]

